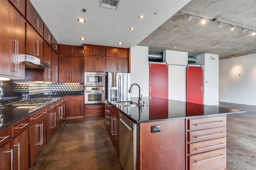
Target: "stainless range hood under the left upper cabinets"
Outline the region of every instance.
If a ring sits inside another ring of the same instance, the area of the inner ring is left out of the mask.
[[[25,55],[25,68],[41,68],[52,70],[52,66],[32,55]]]

